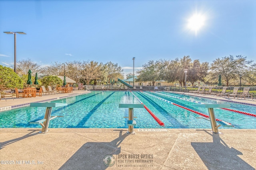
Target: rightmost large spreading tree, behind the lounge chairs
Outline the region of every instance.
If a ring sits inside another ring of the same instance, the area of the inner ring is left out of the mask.
[[[237,55],[236,57],[230,55],[214,60],[210,67],[211,77],[218,80],[218,75],[220,74],[222,80],[228,86],[230,80],[239,80],[239,75],[244,74],[244,70],[252,63],[252,61],[247,61],[246,58],[242,55]]]

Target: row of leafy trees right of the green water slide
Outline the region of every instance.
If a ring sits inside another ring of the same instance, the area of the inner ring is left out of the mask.
[[[255,85],[256,64],[242,55],[222,57],[215,59],[211,64],[200,63],[199,60],[192,61],[190,56],[176,58],[174,60],[160,59],[148,61],[138,70],[137,81],[150,81],[153,86],[157,80],[166,82],[178,82],[185,85],[185,69],[188,69],[186,81],[192,86],[201,81],[208,85],[218,84],[218,76],[222,76],[222,84],[226,86],[238,84],[240,75],[244,84]],[[223,83],[224,82],[224,83]]]

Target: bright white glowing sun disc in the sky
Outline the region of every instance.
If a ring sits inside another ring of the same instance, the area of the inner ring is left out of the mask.
[[[188,28],[197,32],[202,26],[204,26],[205,18],[200,14],[194,14],[188,19]]]

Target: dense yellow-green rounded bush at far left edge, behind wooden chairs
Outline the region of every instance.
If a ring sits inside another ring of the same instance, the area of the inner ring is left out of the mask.
[[[0,65],[0,90],[23,88],[22,79],[12,68]]]

